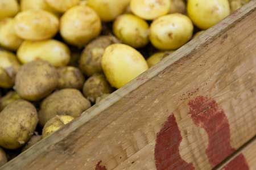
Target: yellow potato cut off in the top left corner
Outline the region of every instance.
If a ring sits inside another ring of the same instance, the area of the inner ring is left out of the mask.
[[[7,17],[12,17],[19,12],[19,4],[16,0],[1,0],[0,1],[0,20]]]

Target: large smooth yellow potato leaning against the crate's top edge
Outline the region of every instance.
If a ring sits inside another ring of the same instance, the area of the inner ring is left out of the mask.
[[[125,44],[113,44],[105,49],[101,66],[109,83],[120,88],[148,69],[137,50]]]

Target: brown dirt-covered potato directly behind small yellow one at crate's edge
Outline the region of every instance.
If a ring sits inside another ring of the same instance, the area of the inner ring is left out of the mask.
[[[79,117],[88,108],[90,108],[90,102],[82,96],[79,90],[65,88],[53,92],[43,100],[38,113],[39,123],[44,126],[56,115]]]

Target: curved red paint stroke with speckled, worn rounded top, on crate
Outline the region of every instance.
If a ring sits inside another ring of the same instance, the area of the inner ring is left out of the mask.
[[[236,151],[230,145],[230,129],[228,118],[224,111],[218,107],[215,100],[198,96],[189,101],[189,114],[193,122],[208,134],[208,147],[206,154],[210,164],[215,167]],[[244,164],[245,161],[241,160]]]

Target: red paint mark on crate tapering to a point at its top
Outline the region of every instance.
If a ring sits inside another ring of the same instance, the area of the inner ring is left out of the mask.
[[[155,164],[157,170],[193,170],[193,164],[185,162],[179,152],[182,137],[175,116],[172,114],[156,135]]]

